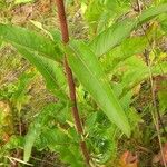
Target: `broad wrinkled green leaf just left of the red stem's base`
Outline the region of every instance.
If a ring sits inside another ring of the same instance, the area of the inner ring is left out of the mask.
[[[45,128],[37,143],[39,143],[39,146],[43,145],[51,151],[58,153],[61,161],[70,165],[70,167],[81,167],[84,166],[82,156],[78,147],[78,141],[73,140],[75,138],[76,136],[72,136],[72,138],[69,137],[69,129],[60,127]]]

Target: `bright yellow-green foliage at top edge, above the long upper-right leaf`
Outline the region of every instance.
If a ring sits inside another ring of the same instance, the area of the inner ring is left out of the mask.
[[[90,0],[85,11],[90,32],[97,35],[105,30],[112,20],[129,9],[129,1]]]

